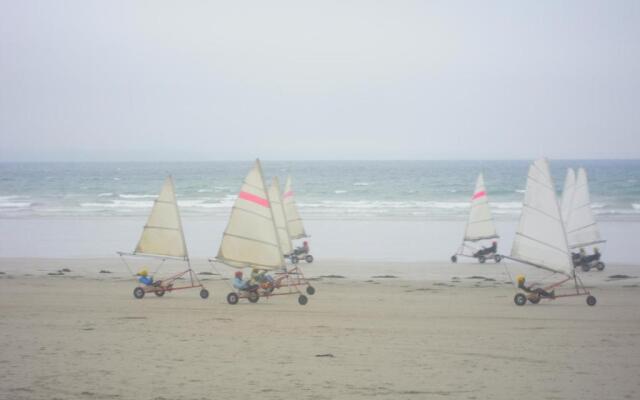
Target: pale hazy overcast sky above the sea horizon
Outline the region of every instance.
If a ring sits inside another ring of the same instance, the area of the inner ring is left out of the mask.
[[[0,160],[640,158],[640,1],[0,0]]]

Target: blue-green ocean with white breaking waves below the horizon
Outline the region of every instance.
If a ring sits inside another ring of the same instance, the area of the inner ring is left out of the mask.
[[[186,218],[224,219],[247,162],[0,163],[0,218],[141,217],[167,174]],[[496,219],[515,220],[529,161],[264,161],[287,174],[305,219],[463,220],[479,172]],[[640,220],[640,160],[552,160],[558,193],[567,167],[585,167],[599,220]]]

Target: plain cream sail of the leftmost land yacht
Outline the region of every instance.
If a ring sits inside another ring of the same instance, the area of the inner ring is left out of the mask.
[[[153,204],[134,254],[188,258],[173,179],[168,176]]]

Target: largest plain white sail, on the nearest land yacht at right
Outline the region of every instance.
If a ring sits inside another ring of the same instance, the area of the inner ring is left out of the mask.
[[[573,276],[567,234],[546,159],[535,161],[529,168],[511,257],[538,268]]]

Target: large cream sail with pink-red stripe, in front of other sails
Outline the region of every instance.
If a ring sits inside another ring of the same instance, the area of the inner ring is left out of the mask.
[[[237,268],[284,266],[260,160],[244,179],[216,258]]]

